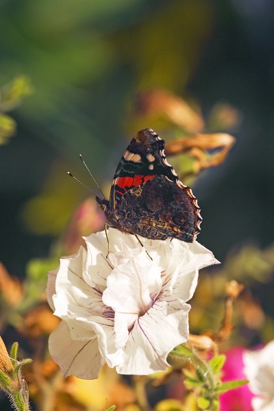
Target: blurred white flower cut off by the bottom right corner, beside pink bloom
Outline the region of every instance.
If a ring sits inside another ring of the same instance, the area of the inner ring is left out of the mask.
[[[254,411],[274,410],[274,340],[264,348],[245,351],[244,373],[249,388],[256,395],[252,399]]]

